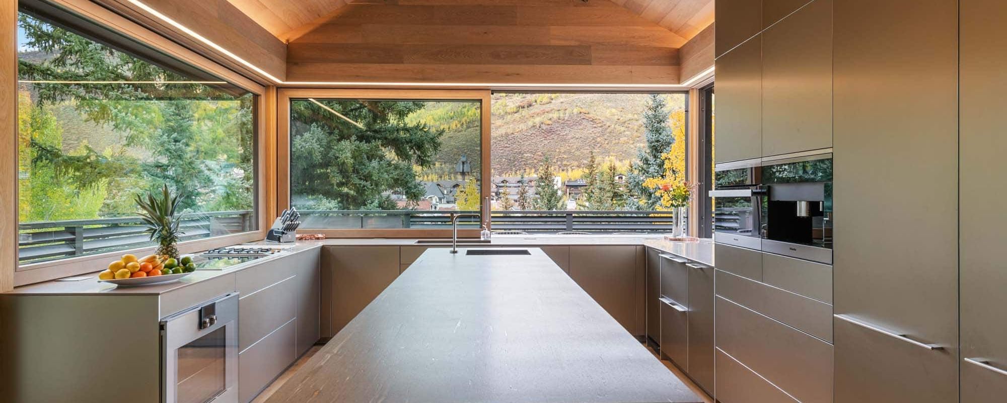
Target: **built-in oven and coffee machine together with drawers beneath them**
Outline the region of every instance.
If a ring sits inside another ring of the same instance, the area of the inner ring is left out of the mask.
[[[716,396],[831,402],[832,154],[718,164]]]

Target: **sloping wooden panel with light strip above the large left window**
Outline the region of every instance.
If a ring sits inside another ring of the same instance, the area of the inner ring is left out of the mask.
[[[214,61],[270,82],[127,0],[96,0]],[[227,0],[143,0],[157,12],[223,46],[278,80],[286,77],[287,45]]]

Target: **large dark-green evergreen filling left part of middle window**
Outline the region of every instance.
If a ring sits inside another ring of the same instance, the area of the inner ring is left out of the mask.
[[[343,210],[395,210],[392,190],[423,197],[414,167],[433,165],[443,133],[407,122],[424,103],[320,102],[346,119],[311,102],[292,103],[291,121],[300,122],[290,149],[293,194],[322,196]]]

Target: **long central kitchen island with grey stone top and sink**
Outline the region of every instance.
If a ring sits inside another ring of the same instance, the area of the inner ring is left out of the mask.
[[[701,401],[545,253],[517,250],[427,250],[268,402]]]

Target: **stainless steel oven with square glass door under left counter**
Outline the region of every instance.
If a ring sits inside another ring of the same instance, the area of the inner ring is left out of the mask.
[[[161,401],[238,402],[238,294],[161,320]]]

